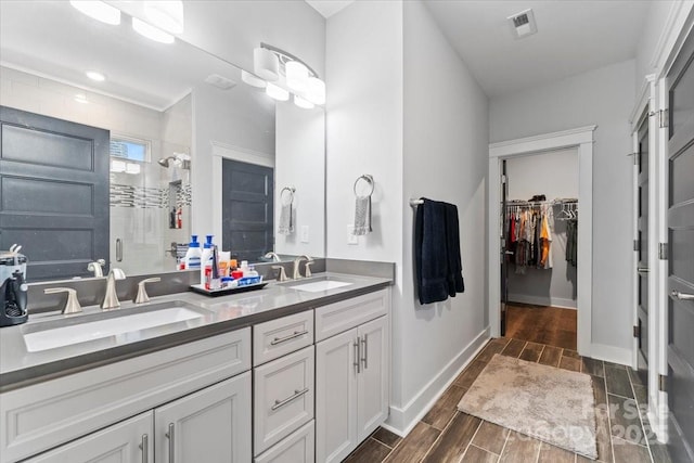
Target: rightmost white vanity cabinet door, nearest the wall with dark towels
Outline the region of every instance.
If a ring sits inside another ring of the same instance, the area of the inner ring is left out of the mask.
[[[390,390],[388,318],[358,329],[361,373],[357,375],[358,438],[362,441],[388,417]]]

